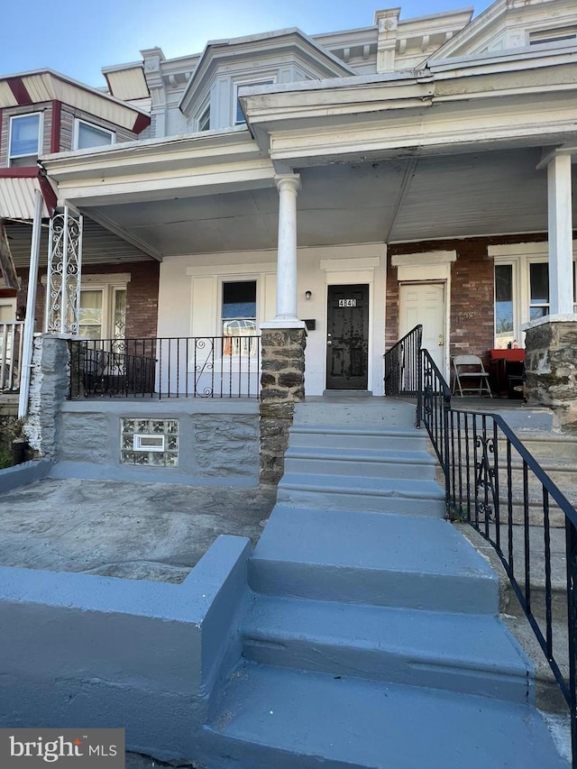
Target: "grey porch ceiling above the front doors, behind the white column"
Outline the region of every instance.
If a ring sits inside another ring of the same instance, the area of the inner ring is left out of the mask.
[[[399,243],[547,228],[541,148],[479,151],[301,170],[298,243]],[[296,169],[298,170],[298,169]],[[577,201],[573,196],[573,219]],[[276,188],[87,206],[164,256],[275,248]]]

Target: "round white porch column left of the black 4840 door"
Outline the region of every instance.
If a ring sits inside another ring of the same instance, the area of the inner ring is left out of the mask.
[[[279,247],[277,252],[277,314],[263,328],[302,328],[297,315],[297,194],[298,174],[275,177],[279,189]]]

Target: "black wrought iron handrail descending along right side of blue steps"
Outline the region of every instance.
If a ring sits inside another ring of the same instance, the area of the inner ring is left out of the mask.
[[[444,473],[447,517],[470,524],[498,554],[567,702],[577,769],[577,512],[502,417],[453,410],[428,351],[413,355],[410,367],[423,383],[417,425],[426,426]],[[398,352],[389,358],[395,360],[400,368]],[[554,600],[553,516],[564,524],[566,601]]]

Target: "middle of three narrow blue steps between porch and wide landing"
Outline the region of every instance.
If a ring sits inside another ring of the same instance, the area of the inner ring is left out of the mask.
[[[435,477],[435,460],[425,450],[383,451],[316,446],[289,447],[285,453],[285,472],[321,475],[347,475],[374,478]]]

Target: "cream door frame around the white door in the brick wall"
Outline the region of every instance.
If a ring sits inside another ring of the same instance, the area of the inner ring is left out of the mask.
[[[451,264],[456,259],[455,251],[405,253],[391,258],[391,265],[397,268],[398,321],[401,283],[444,284],[444,371],[441,373],[447,382],[451,375]]]

